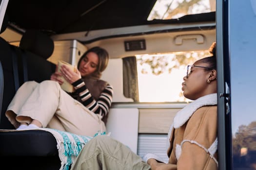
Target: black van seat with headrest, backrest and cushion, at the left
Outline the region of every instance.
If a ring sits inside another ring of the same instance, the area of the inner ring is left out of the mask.
[[[16,85],[31,80],[48,80],[55,71],[56,65],[46,60],[53,52],[53,45],[50,37],[35,30],[23,35],[20,47],[12,46],[0,38],[0,62],[4,76],[0,129],[14,129],[5,117],[5,111],[16,93]],[[10,170],[60,168],[56,139],[46,131],[0,132],[0,159],[2,165],[15,160],[15,163],[8,163]]]

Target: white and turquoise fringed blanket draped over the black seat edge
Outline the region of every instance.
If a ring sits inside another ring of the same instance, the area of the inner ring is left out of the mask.
[[[57,141],[57,149],[59,151],[59,159],[61,167],[59,170],[69,170],[70,165],[74,162],[83,146],[98,135],[106,135],[105,132],[98,132],[94,136],[80,136],[69,132],[59,131],[50,128],[38,128],[33,130],[43,130],[50,132]],[[0,130],[0,131],[17,131],[17,130]],[[22,131],[22,130],[20,130]]]

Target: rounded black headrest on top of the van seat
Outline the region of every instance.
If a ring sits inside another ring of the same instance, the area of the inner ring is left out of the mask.
[[[47,59],[53,53],[54,42],[39,30],[27,30],[21,37],[20,48]]]

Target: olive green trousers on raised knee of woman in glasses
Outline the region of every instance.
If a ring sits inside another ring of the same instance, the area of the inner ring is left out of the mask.
[[[102,135],[83,147],[71,170],[150,170],[150,166],[124,144]]]

